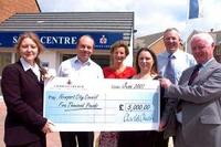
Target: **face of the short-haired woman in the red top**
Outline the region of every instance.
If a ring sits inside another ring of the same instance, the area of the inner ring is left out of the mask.
[[[126,59],[126,52],[124,46],[115,48],[113,52],[113,63],[116,64],[123,64],[124,60]]]

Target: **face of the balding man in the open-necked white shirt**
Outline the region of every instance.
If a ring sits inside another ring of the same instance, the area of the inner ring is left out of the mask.
[[[86,62],[94,51],[94,40],[87,35],[83,35],[76,46],[77,57],[81,62]]]

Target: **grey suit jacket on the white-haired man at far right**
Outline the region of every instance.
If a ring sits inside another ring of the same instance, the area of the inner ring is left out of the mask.
[[[221,147],[221,64],[214,59],[202,69],[191,85],[193,67],[182,73],[179,85],[171,85],[166,95],[182,101],[181,134],[177,147]]]

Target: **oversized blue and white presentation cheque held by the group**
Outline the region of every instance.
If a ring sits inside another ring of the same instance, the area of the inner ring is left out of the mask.
[[[158,130],[159,81],[54,77],[44,87],[44,117],[62,132]]]

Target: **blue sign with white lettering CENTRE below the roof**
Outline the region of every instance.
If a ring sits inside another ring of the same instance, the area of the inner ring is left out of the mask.
[[[23,32],[1,31],[0,48],[12,48]],[[110,45],[123,40],[122,32],[35,32],[46,49],[75,49],[77,40],[91,35],[95,41],[95,49],[108,50]]]

